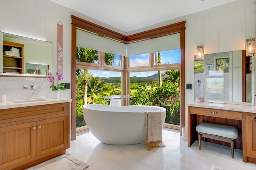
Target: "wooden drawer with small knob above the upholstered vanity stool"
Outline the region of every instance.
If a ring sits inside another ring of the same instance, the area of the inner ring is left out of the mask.
[[[202,108],[202,107],[190,107],[190,114],[193,114],[193,113],[197,115],[242,120],[242,112],[239,112],[239,111],[209,109],[209,108]]]

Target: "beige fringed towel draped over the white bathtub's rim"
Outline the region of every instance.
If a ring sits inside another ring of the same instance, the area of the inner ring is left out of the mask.
[[[148,150],[165,147],[162,141],[162,118],[160,111],[148,111],[146,113],[146,127],[144,144]]]

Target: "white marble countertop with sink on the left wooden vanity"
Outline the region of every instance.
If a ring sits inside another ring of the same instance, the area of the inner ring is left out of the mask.
[[[10,109],[16,107],[27,107],[27,106],[37,106],[37,105],[46,105],[46,104],[57,104],[71,102],[71,99],[66,98],[42,98],[42,99],[28,99],[28,100],[15,100],[15,101],[6,101],[0,102],[0,109]]]

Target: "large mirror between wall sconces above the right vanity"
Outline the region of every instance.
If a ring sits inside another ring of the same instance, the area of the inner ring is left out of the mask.
[[[243,51],[207,54],[202,61],[195,58],[194,98],[204,97],[206,102],[252,104],[252,68],[253,58],[245,57]]]

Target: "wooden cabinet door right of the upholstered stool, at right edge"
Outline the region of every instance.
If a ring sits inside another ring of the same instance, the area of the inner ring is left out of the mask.
[[[246,115],[246,152],[256,156],[256,115]]]

